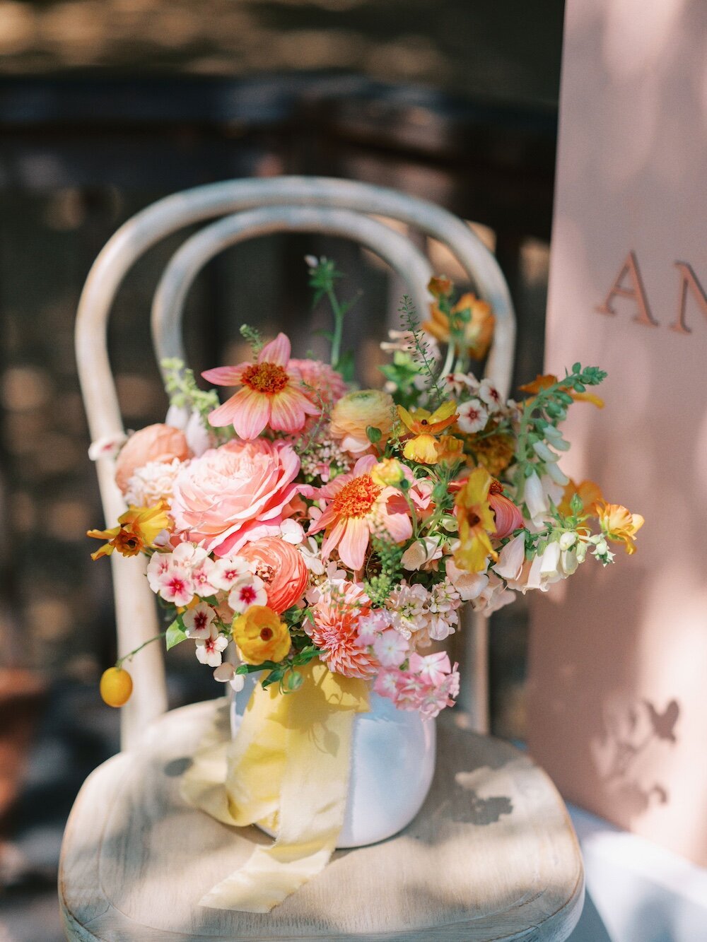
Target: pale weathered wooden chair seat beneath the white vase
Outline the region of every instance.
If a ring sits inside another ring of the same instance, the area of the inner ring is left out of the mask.
[[[335,853],[270,915],[199,906],[254,843],[269,842],[255,827],[227,827],[180,798],[189,755],[221,708],[215,700],[173,710],[139,748],[87,779],[59,869],[70,938],[490,942],[571,932],[584,870],[565,805],[527,755],[458,728],[463,715],[439,723],[432,790],[401,834]]]

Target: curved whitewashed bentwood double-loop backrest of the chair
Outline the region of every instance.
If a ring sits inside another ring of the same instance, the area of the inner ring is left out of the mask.
[[[123,432],[107,353],[107,318],[126,272],[157,241],[195,222],[219,219],[192,235],[175,252],[158,285],[153,305],[153,337],[158,361],[187,359],[181,318],[189,286],[206,262],[230,245],[255,235],[306,231],[342,235],[366,245],[408,285],[419,312],[429,302],[431,269],[412,241],[370,216],[396,219],[444,243],[488,300],[496,316],[494,342],[486,365],[501,393],[511,380],[515,318],[507,285],[495,258],[469,226],[425,201],[384,187],[323,177],[234,180],[176,193],[153,203],[113,235],[90,269],[76,316],[76,359],[90,435],[93,440]],[[107,524],[123,512],[114,463],[97,463]],[[144,560],[113,554],[113,588],[121,654],[156,635],[156,607],[144,577]],[[150,645],[131,666],[135,691],[123,707],[123,748],[140,739],[145,724],[166,709],[164,664]]]

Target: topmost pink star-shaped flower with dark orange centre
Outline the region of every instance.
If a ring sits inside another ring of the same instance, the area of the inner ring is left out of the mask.
[[[235,396],[208,416],[215,428],[233,425],[240,438],[257,438],[262,430],[299,431],[307,415],[320,410],[304,394],[302,375],[289,359],[290,344],[278,333],[257,356],[257,363],[217,366],[202,376],[217,386],[242,386]]]

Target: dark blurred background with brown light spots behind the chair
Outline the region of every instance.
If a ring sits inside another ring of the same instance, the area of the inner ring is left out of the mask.
[[[86,775],[118,749],[97,680],[115,659],[103,517],[76,379],[74,315],[107,238],[143,206],[233,177],[324,174],[396,187],[469,220],[517,307],[518,382],[542,365],[561,0],[0,0],[0,942],[62,938],[58,849]],[[180,239],[123,284],[110,342],[123,416],[164,417],[149,337]],[[463,273],[440,245],[438,271]],[[191,365],[235,362],[238,327],[321,349],[305,253],[363,291],[359,381],[402,286],[351,243],[308,235],[224,252],[187,317]],[[525,736],[525,614],[491,633],[492,730]],[[172,652],[172,706],[210,672]]]

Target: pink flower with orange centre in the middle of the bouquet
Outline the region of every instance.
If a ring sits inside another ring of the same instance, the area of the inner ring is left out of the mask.
[[[354,572],[366,559],[371,532],[385,530],[396,543],[412,536],[407,502],[394,487],[379,487],[370,476],[378,463],[374,455],[364,455],[349,474],[338,475],[317,492],[327,507],[310,533],[326,530],[321,555],[327,560],[338,548],[339,559]]]

